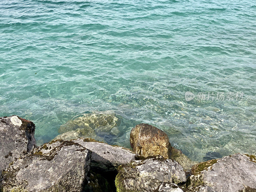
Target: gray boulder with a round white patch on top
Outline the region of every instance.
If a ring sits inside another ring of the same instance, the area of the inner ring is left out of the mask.
[[[0,176],[22,154],[36,147],[35,124],[18,116],[0,117]]]

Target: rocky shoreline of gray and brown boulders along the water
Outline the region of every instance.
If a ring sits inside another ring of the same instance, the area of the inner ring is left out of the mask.
[[[133,150],[63,127],[54,140],[36,146],[34,132],[31,121],[0,117],[1,192],[256,192],[255,156],[196,163],[148,124],[132,128]]]

